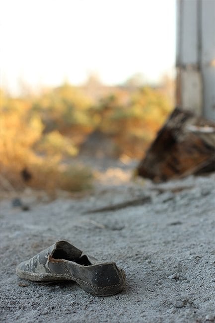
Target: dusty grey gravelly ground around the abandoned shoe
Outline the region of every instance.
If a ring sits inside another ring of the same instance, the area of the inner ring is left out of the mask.
[[[29,211],[1,201],[1,322],[215,322],[214,174],[162,185],[128,179],[109,169],[94,193],[49,203],[29,193]],[[151,201],[122,204],[144,196]],[[16,277],[19,262],[60,239],[116,261],[126,289],[98,298],[72,282],[39,286]]]

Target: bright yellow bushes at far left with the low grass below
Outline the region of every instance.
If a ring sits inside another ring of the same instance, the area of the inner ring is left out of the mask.
[[[54,197],[58,189],[76,192],[91,187],[90,169],[62,164],[76,154],[72,141],[57,131],[44,136],[40,115],[32,114],[26,100],[1,96],[0,115],[1,189],[21,191],[28,186]],[[30,174],[27,181],[21,176],[23,169]]]

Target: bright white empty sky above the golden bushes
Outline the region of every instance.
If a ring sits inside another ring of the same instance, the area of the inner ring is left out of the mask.
[[[1,0],[1,86],[173,73],[175,0]]]

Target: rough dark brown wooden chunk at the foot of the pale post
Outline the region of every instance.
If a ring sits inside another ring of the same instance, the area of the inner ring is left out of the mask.
[[[215,123],[180,108],[158,132],[138,175],[156,182],[215,170]]]

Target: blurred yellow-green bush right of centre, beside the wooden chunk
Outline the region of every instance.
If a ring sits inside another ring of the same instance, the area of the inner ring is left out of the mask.
[[[100,131],[114,139],[119,155],[141,158],[171,109],[167,96],[143,87],[132,92],[126,104],[117,94],[103,98],[95,114],[100,116]]]

